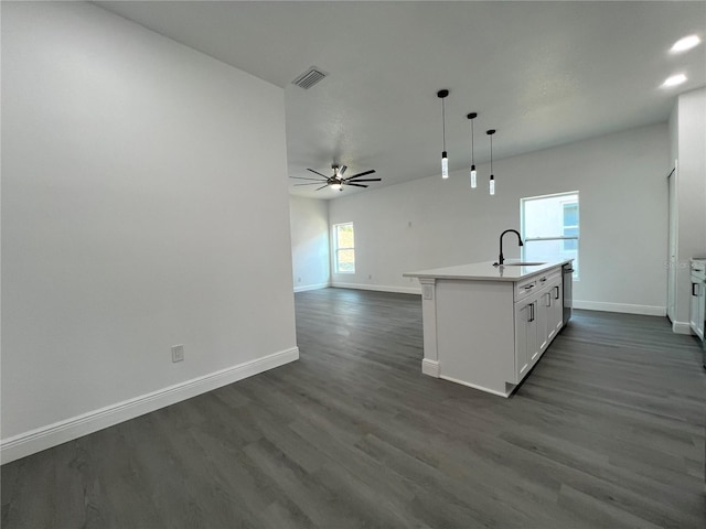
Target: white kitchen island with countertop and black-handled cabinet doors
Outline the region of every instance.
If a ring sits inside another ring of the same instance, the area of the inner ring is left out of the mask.
[[[563,326],[569,262],[405,273],[421,283],[422,373],[510,397]]]

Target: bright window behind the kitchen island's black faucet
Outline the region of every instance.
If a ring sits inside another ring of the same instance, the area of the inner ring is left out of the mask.
[[[574,278],[578,279],[578,191],[522,198],[520,216],[523,260],[574,259]]]

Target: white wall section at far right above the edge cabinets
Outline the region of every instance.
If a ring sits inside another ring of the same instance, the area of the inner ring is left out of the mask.
[[[689,259],[706,257],[706,88],[682,94],[670,120],[677,159],[677,289],[675,328],[688,330]],[[674,154],[675,153],[675,154]]]

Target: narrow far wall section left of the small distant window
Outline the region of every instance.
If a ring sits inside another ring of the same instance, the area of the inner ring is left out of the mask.
[[[290,196],[289,216],[295,292],[328,287],[331,280],[329,204]]]

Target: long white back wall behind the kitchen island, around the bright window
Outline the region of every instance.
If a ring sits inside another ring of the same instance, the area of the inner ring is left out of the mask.
[[[661,123],[498,160],[494,197],[484,165],[475,191],[462,171],[332,199],[329,223],[352,220],[356,241],[356,273],[333,284],[418,291],[403,272],[495,260],[520,198],[579,191],[578,306],[664,314],[668,149]],[[504,253],[520,256],[510,238]]]

